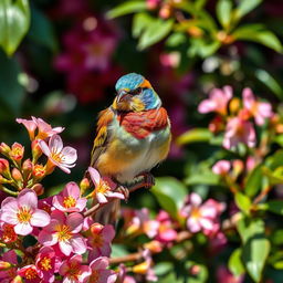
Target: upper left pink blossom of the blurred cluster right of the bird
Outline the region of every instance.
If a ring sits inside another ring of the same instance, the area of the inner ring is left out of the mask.
[[[232,87],[229,85],[223,86],[222,90],[213,88],[209,93],[209,98],[199,104],[198,111],[200,113],[217,112],[221,115],[226,115],[227,106],[232,95]]]

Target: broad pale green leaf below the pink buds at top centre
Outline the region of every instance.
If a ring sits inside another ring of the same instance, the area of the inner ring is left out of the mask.
[[[150,25],[146,28],[138,41],[138,50],[145,50],[146,48],[157,43],[169,34],[174,25],[174,20],[155,19]]]

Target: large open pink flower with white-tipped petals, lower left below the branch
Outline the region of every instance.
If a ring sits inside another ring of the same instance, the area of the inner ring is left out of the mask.
[[[83,254],[86,251],[85,239],[78,234],[83,228],[83,216],[73,212],[65,217],[62,211],[51,213],[51,222],[39,234],[39,242],[45,247],[59,244],[62,253]]]

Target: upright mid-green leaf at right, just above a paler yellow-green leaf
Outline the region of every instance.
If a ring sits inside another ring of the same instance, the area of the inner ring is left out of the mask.
[[[253,197],[262,187],[262,165],[256,166],[248,176],[244,184],[244,192],[249,197]]]

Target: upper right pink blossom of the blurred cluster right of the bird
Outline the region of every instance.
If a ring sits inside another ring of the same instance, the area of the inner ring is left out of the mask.
[[[266,118],[273,116],[271,104],[266,102],[258,102],[251,88],[245,87],[242,96],[244,108],[254,117],[255,124],[259,126],[262,126]]]

